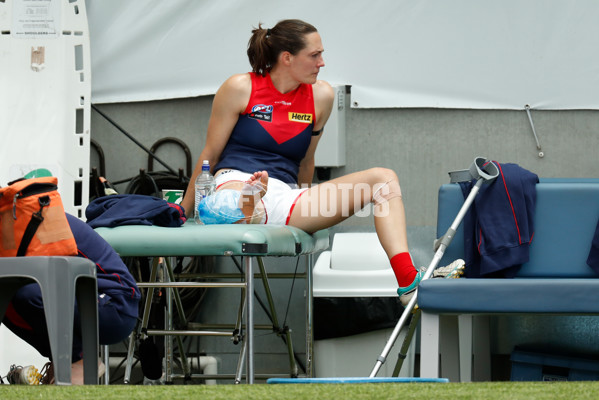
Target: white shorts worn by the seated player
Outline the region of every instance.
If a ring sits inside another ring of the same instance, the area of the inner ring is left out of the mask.
[[[214,178],[216,188],[227,182],[246,182],[252,174],[235,169],[219,171]],[[289,186],[283,181],[268,178],[268,190],[262,198],[265,215],[260,223],[269,225],[287,225],[295,203],[307,188],[298,189]]]

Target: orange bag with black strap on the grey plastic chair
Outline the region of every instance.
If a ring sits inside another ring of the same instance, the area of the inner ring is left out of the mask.
[[[44,177],[0,188],[1,257],[77,255],[57,185]]]

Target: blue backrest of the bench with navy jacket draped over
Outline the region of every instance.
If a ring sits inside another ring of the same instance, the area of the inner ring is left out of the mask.
[[[522,265],[517,276],[598,278],[586,260],[599,220],[599,179],[542,179],[536,189],[535,234],[530,260]],[[445,234],[463,202],[458,184],[441,186],[437,237]],[[464,258],[462,225],[440,265]]]

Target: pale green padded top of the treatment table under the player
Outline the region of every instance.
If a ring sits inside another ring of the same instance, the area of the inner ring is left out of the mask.
[[[198,225],[178,228],[125,225],[96,228],[122,257],[269,255],[297,256],[329,247],[329,232],[308,234],[292,226]]]

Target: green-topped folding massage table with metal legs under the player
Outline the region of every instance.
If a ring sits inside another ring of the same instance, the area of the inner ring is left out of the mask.
[[[312,360],[312,254],[326,250],[329,247],[329,233],[326,230],[308,234],[301,229],[291,226],[271,225],[198,225],[187,222],[178,228],[161,226],[127,225],[115,228],[96,228],[100,234],[121,257],[162,257],[176,256],[243,256],[244,279],[236,283],[194,283],[193,287],[228,287],[245,290],[245,302],[242,304],[245,316],[245,335],[240,355],[240,362],[245,357],[246,382],[254,383],[254,265],[253,258],[259,262],[261,257],[299,257],[308,256],[306,269],[306,357],[308,360],[307,373],[311,374]],[[155,274],[156,262],[152,273]],[[153,282],[139,283],[139,287],[191,287],[190,282]],[[151,303],[150,293],[146,296],[144,320],[147,322]],[[176,292],[176,291],[174,291]],[[207,332],[209,335],[221,335],[217,332]],[[168,335],[168,333],[166,333]],[[174,335],[184,335],[185,332],[173,332]],[[199,335],[198,332],[189,334]],[[230,335],[230,334],[228,334]],[[131,342],[134,342],[133,338]],[[128,362],[132,359],[132,343],[130,343]],[[130,364],[129,364],[130,368]],[[238,379],[240,373],[238,371]]]

